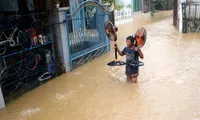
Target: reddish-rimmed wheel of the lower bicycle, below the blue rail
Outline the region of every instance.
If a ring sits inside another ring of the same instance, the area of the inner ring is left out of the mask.
[[[25,55],[24,62],[28,70],[35,70],[38,66],[38,57],[33,52],[28,52]]]

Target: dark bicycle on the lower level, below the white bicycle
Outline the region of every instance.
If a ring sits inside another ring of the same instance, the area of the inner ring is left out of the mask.
[[[36,70],[38,57],[33,52],[24,55],[16,54],[12,59],[4,59],[4,67],[0,72],[0,85],[4,95],[11,94],[24,84],[24,78],[28,77],[28,71]]]

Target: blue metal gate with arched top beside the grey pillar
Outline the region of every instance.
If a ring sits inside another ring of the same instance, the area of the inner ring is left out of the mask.
[[[71,14],[66,13],[71,70],[110,50],[103,26],[108,14],[96,1],[82,2]]]

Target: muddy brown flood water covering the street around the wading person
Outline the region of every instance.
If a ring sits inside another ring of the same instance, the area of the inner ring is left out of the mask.
[[[147,30],[137,84],[126,82],[125,66],[106,65],[111,50],[27,92],[0,110],[0,120],[199,120],[200,34],[182,34],[172,23],[168,11],[118,26],[121,49],[126,36]]]

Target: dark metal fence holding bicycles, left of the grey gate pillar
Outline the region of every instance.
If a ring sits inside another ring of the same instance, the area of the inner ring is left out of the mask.
[[[55,76],[47,13],[0,20],[0,86],[5,102]]]

